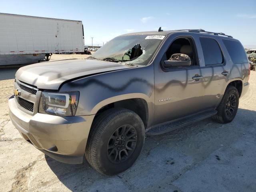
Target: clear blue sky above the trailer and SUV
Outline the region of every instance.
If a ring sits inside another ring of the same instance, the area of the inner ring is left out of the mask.
[[[128,32],[199,29],[224,32],[256,47],[256,0],[0,0],[0,12],[82,20],[85,44]]]

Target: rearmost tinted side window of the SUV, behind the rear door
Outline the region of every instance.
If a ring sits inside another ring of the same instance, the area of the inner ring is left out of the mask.
[[[225,39],[223,42],[233,63],[248,63],[247,55],[240,42]]]

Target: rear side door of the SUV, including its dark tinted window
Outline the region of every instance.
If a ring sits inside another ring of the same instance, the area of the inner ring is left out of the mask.
[[[200,58],[202,66],[201,74],[204,87],[205,109],[214,109],[218,106],[230,76],[230,61],[224,57],[224,47],[222,40],[216,36],[200,36]]]

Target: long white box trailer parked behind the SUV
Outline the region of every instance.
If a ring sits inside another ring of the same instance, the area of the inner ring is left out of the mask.
[[[0,13],[0,66],[83,51],[82,21]]]

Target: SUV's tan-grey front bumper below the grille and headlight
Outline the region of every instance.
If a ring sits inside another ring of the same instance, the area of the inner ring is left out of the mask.
[[[32,116],[21,111],[14,98],[9,99],[9,115],[21,136],[46,155],[68,164],[82,163],[95,115]]]

